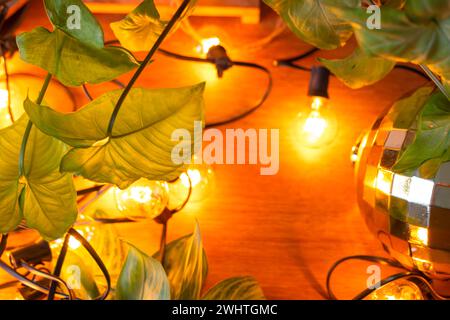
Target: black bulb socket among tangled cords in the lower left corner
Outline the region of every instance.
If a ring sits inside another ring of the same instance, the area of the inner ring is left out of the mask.
[[[9,259],[14,268],[19,268],[22,261],[35,266],[52,261],[52,251],[49,243],[41,240],[24,248],[11,251]]]

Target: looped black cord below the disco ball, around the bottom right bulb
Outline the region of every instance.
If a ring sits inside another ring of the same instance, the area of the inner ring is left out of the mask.
[[[333,290],[331,288],[331,278],[332,275],[334,273],[334,271],[336,270],[337,267],[339,267],[342,263],[347,262],[347,261],[351,261],[351,260],[357,260],[357,261],[365,261],[365,262],[373,262],[373,263],[378,263],[381,265],[387,265],[387,266],[391,266],[394,268],[399,268],[399,269],[406,269],[403,265],[401,265],[399,262],[392,260],[392,259],[388,259],[388,258],[384,258],[384,257],[377,257],[377,256],[370,256],[370,255],[356,255],[356,256],[348,256],[342,259],[339,259],[338,261],[336,261],[331,268],[328,270],[327,273],[327,279],[326,279],[326,287],[327,287],[327,293],[328,293],[328,298],[331,300],[339,300],[336,295],[333,293]],[[404,271],[401,273],[397,273],[394,274],[392,276],[389,276],[385,279],[382,279],[380,282],[378,282],[377,284],[375,284],[373,286],[373,288],[367,288],[364,291],[360,292],[358,295],[356,295],[352,300],[363,300],[365,299],[367,296],[369,296],[371,293],[373,293],[374,291],[378,290],[379,288],[381,288],[382,286],[391,283],[392,281],[396,281],[399,279],[413,279],[415,280],[414,283],[419,283],[422,285],[419,286],[419,288],[421,289],[421,291],[423,292],[424,290],[426,290],[426,293],[429,294],[433,299],[435,300],[449,300],[450,297],[446,297],[446,296],[442,296],[440,295],[438,292],[436,292],[436,290],[433,288],[432,284],[431,284],[431,280],[422,272],[418,271],[418,270],[413,270],[413,271]]]

